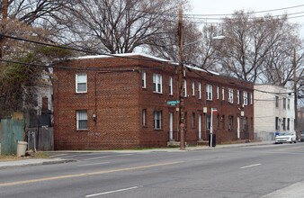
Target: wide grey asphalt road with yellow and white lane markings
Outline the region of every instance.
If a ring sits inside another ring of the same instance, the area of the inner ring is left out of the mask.
[[[304,143],[51,154],[77,161],[1,169],[0,197],[304,197]]]

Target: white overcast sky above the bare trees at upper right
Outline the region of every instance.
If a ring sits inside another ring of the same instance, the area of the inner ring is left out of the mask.
[[[291,14],[290,17],[295,17],[291,19],[291,23],[300,24],[300,32],[304,37],[304,1],[303,0],[190,0],[192,4],[191,13],[187,12],[185,14],[233,14],[238,10],[245,11],[269,11],[287,7],[280,11],[272,11],[269,14],[280,15],[280,14]],[[300,14],[297,14],[300,13]],[[263,13],[264,15],[266,13]],[[261,15],[261,14],[257,14]],[[301,16],[301,17],[299,17]],[[201,16],[202,17],[202,16]],[[209,16],[214,18],[219,18],[220,16]],[[215,21],[208,20],[209,23],[214,23]]]

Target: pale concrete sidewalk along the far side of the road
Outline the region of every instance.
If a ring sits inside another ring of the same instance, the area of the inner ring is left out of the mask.
[[[148,152],[185,152],[192,150],[202,150],[202,149],[217,149],[217,148],[235,148],[235,147],[248,147],[248,146],[258,146],[258,145],[271,145],[273,141],[260,141],[260,142],[248,142],[240,144],[225,144],[217,145],[216,147],[210,148],[208,146],[197,146],[197,147],[186,147],[185,150],[180,148],[151,148],[151,149],[128,149],[128,150],[65,150],[65,151],[52,151],[52,152],[113,152],[113,153],[148,153]],[[49,164],[60,164],[73,162],[75,160],[62,159],[62,158],[25,158],[22,160],[13,161],[0,161],[0,169],[18,166],[40,166]]]

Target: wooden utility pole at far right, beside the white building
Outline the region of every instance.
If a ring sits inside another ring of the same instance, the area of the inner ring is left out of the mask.
[[[298,90],[297,90],[297,62],[296,62],[296,49],[293,49],[293,92],[294,92],[294,130],[296,130],[297,137],[298,134]]]

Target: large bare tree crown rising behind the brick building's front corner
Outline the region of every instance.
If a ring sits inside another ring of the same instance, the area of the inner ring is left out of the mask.
[[[66,4],[61,39],[85,49],[129,53],[162,34],[176,19],[178,0],[88,0]],[[68,33],[67,33],[68,32]],[[176,31],[175,31],[176,32]]]

